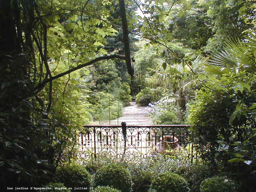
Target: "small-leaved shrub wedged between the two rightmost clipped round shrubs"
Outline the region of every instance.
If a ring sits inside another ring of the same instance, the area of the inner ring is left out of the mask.
[[[176,173],[186,179],[191,192],[198,192],[201,182],[212,176],[208,166],[195,164],[182,166],[178,168]]]

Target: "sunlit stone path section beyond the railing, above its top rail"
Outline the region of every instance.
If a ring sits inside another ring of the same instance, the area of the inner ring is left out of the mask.
[[[130,105],[124,108],[123,116],[110,120],[110,124],[121,125],[121,122],[126,122],[126,125],[152,125],[152,121],[146,112],[146,106],[138,106],[136,102],[130,102]],[[101,122],[101,124],[109,125],[109,121]]]

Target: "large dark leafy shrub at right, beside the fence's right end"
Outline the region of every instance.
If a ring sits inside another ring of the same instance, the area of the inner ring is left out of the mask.
[[[245,190],[255,191],[256,74],[230,72],[218,83],[221,86],[208,84],[198,91],[190,105],[188,124],[193,124],[201,157],[233,174]]]

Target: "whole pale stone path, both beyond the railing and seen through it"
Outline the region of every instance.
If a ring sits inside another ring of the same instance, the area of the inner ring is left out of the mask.
[[[109,120],[107,121],[102,121],[102,122],[96,122],[95,124],[97,125],[121,125],[122,122],[126,122],[126,125],[152,125],[152,121],[150,117],[147,115],[147,109],[146,106],[138,106],[136,102],[130,102],[129,106],[126,106],[122,112],[122,117],[114,120]],[[120,131],[122,131],[122,128],[120,128]],[[102,137],[99,142],[99,134],[102,134]],[[139,134],[139,141],[135,141],[138,139],[138,132]],[[116,147],[117,145],[113,145],[113,132],[112,129],[108,130],[106,129],[101,129],[98,128],[96,131],[97,134],[97,140],[96,140],[96,153],[100,154],[102,151],[107,152],[107,153],[113,153],[116,154],[122,154],[124,152],[124,140],[122,138],[122,133],[118,133],[116,135],[117,138],[117,143],[118,143],[118,148]],[[126,153],[128,154],[147,154],[150,150],[151,147],[146,147],[148,145],[148,142],[146,142],[148,132],[144,132],[143,128],[137,128],[136,130],[130,129],[127,130],[127,146],[128,148],[126,149]],[[89,138],[90,137],[90,138]],[[110,143],[107,144],[107,138]],[[84,148],[87,148],[91,152],[94,151],[94,136],[93,133],[89,135],[84,135],[83,140],[86,141],[83,146]],[[133,140],[133,143],[132,141]],[[79,139],[81,143],[81,139]],[[136,143],[135,143],[136,142]],[[135,146],[136,144],[136,146]],[[113,146],[112,146],[113,145]],[[81,154],[83,154],[83,148],[80,147]],[[90,154],[89,154],[90,156]]]

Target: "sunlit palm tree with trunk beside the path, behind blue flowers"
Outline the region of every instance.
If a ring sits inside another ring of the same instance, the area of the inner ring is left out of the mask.
[[[154,75],[150,79],[153,86],[162,86],[168,92],[160,99],[160,102],[168,102],[179,109],[178,118],[184,117],[186,111],[186,102],[188,96],[192,94],[191,90],[198,86],[197,74],[200,72],[200,66],[206,61],[202,55],[190,62],[173,63],[166,65],[162,58],[157,58],[157,67],[148,68]]]

